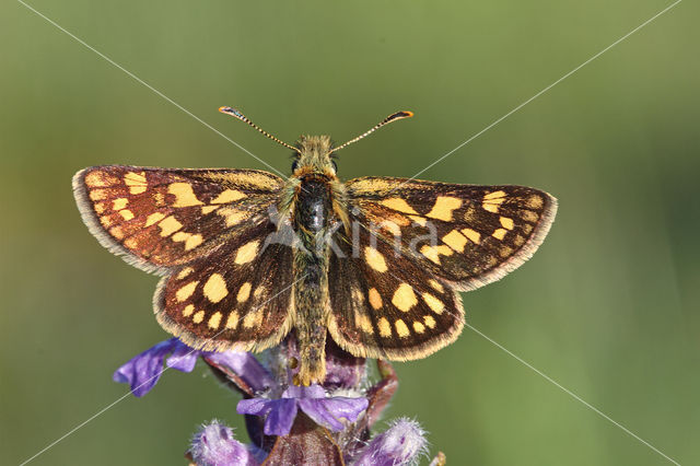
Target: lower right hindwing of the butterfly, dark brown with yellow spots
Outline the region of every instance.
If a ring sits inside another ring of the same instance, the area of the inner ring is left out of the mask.
[[[347,351],[390,360],[424,358],[464,326],[458,293],[369,230],[357,246],[339,233],[329,264],[328,330]]]

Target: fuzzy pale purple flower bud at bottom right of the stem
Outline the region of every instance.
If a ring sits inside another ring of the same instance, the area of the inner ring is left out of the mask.
[[[355,457],[353,466],[411,464],[425,454],[425,432],[418,422],[400,418],[376,435]]]

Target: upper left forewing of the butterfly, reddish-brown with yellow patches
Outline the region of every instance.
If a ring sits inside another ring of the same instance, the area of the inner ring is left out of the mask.
[[[161,273],[266,222],[282,185],[255,170],[106,165],[73,177],[83,221],[97,240]]]

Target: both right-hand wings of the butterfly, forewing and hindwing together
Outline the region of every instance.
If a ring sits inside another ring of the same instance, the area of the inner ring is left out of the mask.
[[[347,187],[352,232],[338,232],[330,259],[328,328],[351,353],[392,360],[451,343],[464,326],[456,290],[527,260],[557,209],[522,186],[372,177]]]

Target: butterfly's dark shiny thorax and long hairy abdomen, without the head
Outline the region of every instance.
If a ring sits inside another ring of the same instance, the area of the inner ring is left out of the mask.
[[[304,385],[325,377],[326,321],[328,316],[328,244],[334,210],[329,180],[307,175],[294,199],[293,226],[300,240],[294,249],[294,308],[301,349],[299,378]]]

